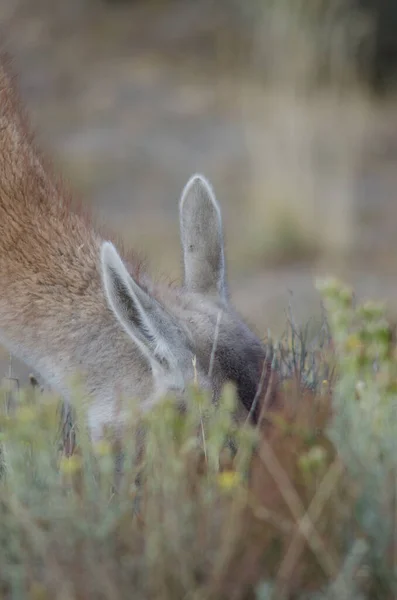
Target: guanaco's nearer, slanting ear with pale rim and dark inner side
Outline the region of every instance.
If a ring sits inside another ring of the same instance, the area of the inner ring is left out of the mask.
[[[102,280],[109,307],[124,330],[149,359],[152,366],[171,364],[173,353],[166,340],[175,335],[175,325],[163,307],[128,273],[110,242],[101,247]]]

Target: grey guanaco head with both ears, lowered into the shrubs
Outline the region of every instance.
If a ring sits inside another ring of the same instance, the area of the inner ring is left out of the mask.
[[[216,399],[231,381],[250,410],[265,348],[229,303],[221,212],[204,177],[188,181],[179,217],[183,286],[160,289],[138,282],[113,244],[104,242],[101,267],[109,307],[120,323],[120,335],[124,329],[150,365],[152,401],[170,390],[183,397],[193,378]]]

